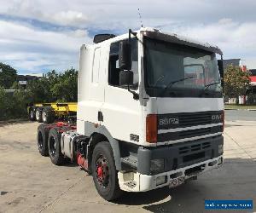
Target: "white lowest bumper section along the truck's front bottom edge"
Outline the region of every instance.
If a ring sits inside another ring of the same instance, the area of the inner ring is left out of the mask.
[[[201,175],[207,170],[218,168],[223,164],[223,156],[208,159],[198,164],[192,164],[177,170],[163,172],[154,176],[143,175],[138,172],[119,172],[119,187],[127,192],[146,192],[159,187],[168,186],[173,178],[184,177],[185,180],[193,176]],[[166,176],[166,182],[157,184],[157,178]]]

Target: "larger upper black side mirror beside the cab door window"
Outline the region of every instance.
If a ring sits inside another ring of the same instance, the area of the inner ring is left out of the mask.
[[[119,69],[131,70],[131,43],[126,41],[119,44]]]

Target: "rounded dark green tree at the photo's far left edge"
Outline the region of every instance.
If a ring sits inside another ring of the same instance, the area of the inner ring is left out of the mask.
[[[9,89],[16,81],[17,71],[15,68],[0,62],[0,86]]]

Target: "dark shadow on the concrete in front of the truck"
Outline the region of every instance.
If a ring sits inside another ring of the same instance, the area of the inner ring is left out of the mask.
[[[256,202],[256,161],[230,158],[223,167],[177,188],[125,193],[117,204],[142,205],[151,212],[204,212],[205,199],[253,199]],[[240,211],[242,212],[242,211]]]

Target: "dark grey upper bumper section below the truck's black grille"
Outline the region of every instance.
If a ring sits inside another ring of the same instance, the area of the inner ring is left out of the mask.
[[[156,175],[171,170],[178,170],[189,165],[198,164],[223,154],[223,135],[187,141],[172,146],[139,147],[137,151],[137,172],[143,175]],[[219,148],[222,147],[220,150]],[[164,169],[151,170],[151,160],[164,160]]]

